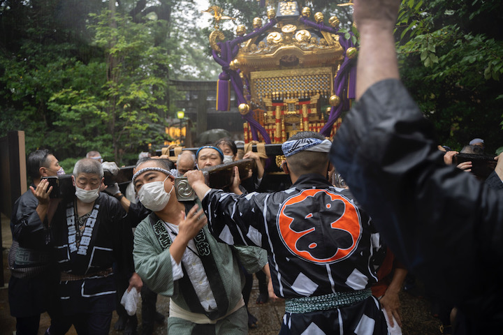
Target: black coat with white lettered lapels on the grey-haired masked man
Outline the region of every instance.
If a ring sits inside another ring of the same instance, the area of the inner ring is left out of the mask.
[[[115,279],[113,276],[103,276],[100,272],[114,266],[114,270],[129,278],[134,271],[133,233],[131,226],[126,223],[126,211],[115,198],[100,193],[85,223],[85,232],[79,245],[75,244],[73,235],[78,229],[75,214],[74,199],[63,201],[51,225],[54,255],[59,269],[88,277],[60,282],[59,297],[63,313],[113,311]]]

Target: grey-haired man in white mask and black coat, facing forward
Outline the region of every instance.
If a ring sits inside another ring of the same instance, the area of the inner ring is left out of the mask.
[[[131,227],[117,199],[100,192],[101,163],[75,164],[75,197],[63,199],[51,221],[54,255],[61,271],[59,299],[64,322],[78,334],[108,334],[115,309],[114,274],[129,276],[129,290],[142,281],[134,273]],[[51,326],[50,334],[58,334]]]

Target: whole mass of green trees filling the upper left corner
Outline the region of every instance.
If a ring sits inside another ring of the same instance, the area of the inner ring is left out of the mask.
[[[169,19],[170,1],[147,2]],[[108,1],[3,1],[0,136],[24,130],[28,152],[48,147],[62,160],[97,149],[121,163],[161,145],[176,43],[166,20],[145,18],[147,2],[122,1],[110,16]]]

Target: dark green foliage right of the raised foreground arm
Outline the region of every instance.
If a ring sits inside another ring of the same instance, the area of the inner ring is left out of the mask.
[[[439,142],[460,149],[483,137],[501,144],[501,1],[406,0],[395,36],[402,77]],[[497,121],[497,122],[495,122]],[[503,122],[502,122],[503,125]]]

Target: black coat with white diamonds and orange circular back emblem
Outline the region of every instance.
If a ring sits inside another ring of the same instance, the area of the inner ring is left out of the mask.
[[[304,174],[275,193],[212,190],[203,209],[220,241],[267,250],[275,294],[295,298],[363,290],[377,281],[379,237],[352,198],[320,174]]]

